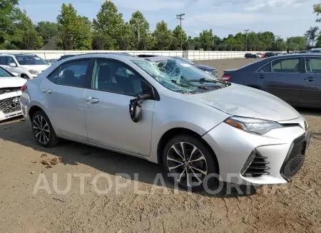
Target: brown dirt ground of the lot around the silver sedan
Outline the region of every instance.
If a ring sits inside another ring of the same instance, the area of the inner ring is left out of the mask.
[[[250,61],[203,63],[222,72]],[[1,123],[0,232],[321,232],[321,110],[300,112],[313,133],[305,165],[292,182],[250,195],[190,193],[167,180],[153,185],[158,165],[68,141],[46,149],[20,118]],[[83,187],[79,174],[91,176]],[[47,190],[34,194],[37,181]],[[117,192],[116,182],[130,183]]]

